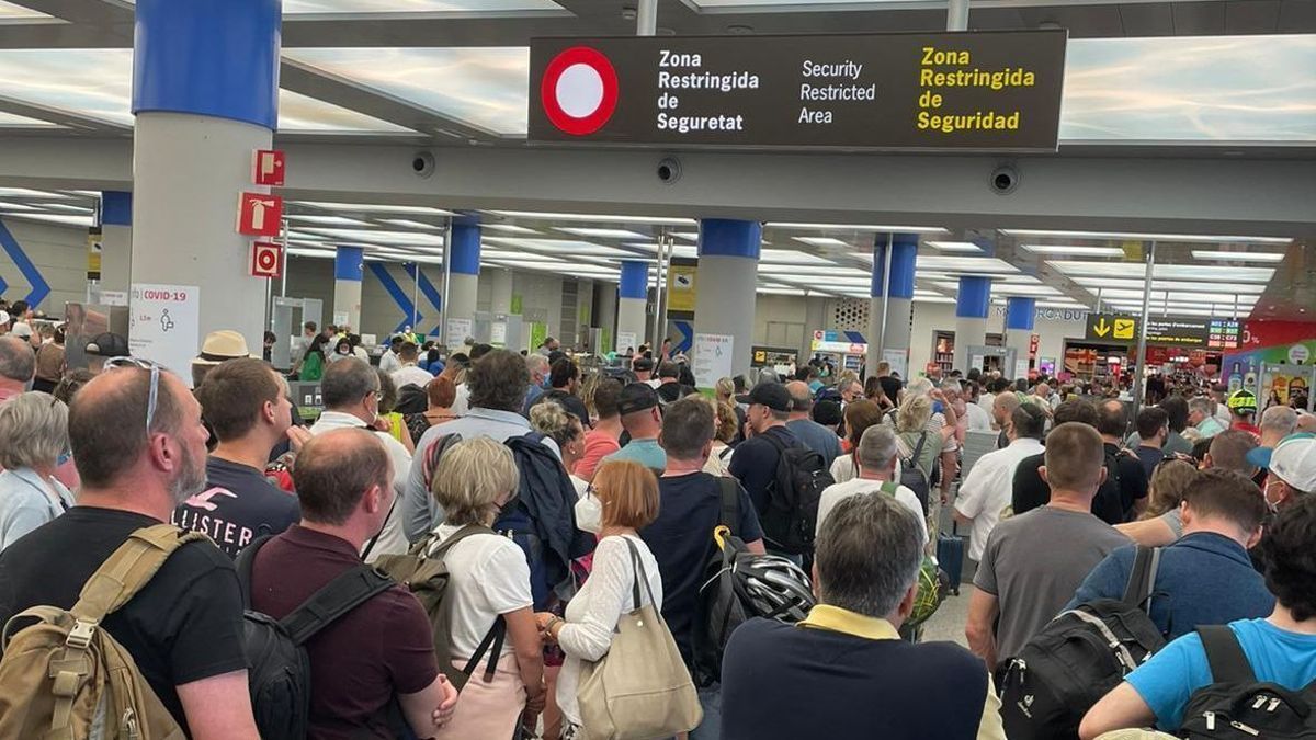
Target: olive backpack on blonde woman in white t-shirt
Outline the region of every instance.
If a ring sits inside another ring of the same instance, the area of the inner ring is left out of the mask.
[[[488,683],[494,679],[499,657],[503,654],[503,640],[507,637],[507,621],[503,619],[503,615],[499,615],[465,668],[457,670],[453,666],[453,661],[446,657],[453,653],[453,610],[449,608],[445,600],[451,575],[447,571],[447,564],[443,562],[443,556],[457,542],[476,535],[500,536],[488,527],[467,524],[428,554],[426,550],[436,540],[433,536],[421,540],[407,554],[380,556],[375,562],[375,566],[382,573],[405,586],[420,600],[420,606],[425,608],[434,636],[434,654],[438,656],[438,668],[447,675],[447,679],[453,682],[453,686],[458,691],[466,686],[467,679],[480,664],[484,653],[490,653],[488,666],[484,669],[484,682]]]

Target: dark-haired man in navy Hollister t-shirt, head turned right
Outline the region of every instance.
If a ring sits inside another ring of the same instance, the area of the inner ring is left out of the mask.
[[[265,477],[270,450],[287,438],[292,403],[274,369],[228,359],[196,388],[220,445],[205,462],[205,490],[174,510],[174,524],[207,533],[229,557],[300,519],[297,499]]]

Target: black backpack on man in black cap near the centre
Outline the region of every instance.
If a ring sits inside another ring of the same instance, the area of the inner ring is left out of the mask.
[[[778,452],[776,471],[767,486],[767,511],[759,512],[763,537],[782,552],[813,552],[819,500],[836,481],[817,452],[807,446],[787,446],[772,435],[763,438]]]

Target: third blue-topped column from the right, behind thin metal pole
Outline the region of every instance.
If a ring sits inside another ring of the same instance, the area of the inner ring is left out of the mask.
[[[909,334],[913,313],[913,270],[919,257],[919,234],[895,233],[891,238],[891,277],[887,279],[887,237],[875,234],[873,241],[873,282],[869,295],[869,356],[865,367],[875,375],[878,362],[886,361],[901,378],[909,378]],[[883,299],[887,288],[891,298]],[[886,309],[886,316],[883,316]],[[883,319],[886,330],[882,330]],[[878,340],[882,346],[878,346]]]

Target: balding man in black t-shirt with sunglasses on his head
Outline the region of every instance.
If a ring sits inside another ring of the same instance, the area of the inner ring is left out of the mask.
[[[113,369],[68,413],[78,506],[0,553],[0,623],[34,606],[71,608],[137,529],[168,521],[205,486],[201,407],[162,370]],[[178,549],[101,624],[190,737],[259,740],[233,564],[208,541]]]

